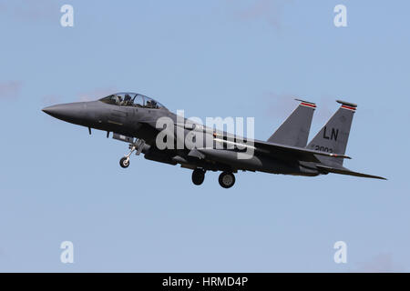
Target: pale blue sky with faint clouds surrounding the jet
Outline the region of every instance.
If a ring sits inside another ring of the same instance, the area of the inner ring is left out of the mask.
[[[60,25],[61,5],[74,27]],[[348,26],[333,25],[346,5]],[[0,271],[410,270],[407,1],[0,1]],[[358,104],[344,166],[386,176],[208,173],[133,156],[46,105],[116,91],[186,116],[253,116],[267,139],[316,102]],[[60,262],[62,241],[74,264]],[[347,264],[333,262],[346,242]]]

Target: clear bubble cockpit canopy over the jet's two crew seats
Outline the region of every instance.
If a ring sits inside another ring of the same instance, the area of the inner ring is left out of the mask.
[[[132,106],[151,109],[165,108],[164,105],[161,105],[159,102],[147,97],[146,95],[130,92],[109,95],[107,97],[99,99],[99,101],[119,106]]]

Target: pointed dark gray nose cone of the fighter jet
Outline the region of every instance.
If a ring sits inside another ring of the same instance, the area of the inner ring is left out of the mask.
[[[77,102],[48,106],[43,108],[42,111],[58,119],[77,123],[83,118],[84,107],[83,102]]]

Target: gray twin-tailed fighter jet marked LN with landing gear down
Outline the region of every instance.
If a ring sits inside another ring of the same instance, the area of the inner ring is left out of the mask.
[[[156,100],[135,93],[108,95],[97,101],[52,105],[43,111],[58,119],[76,125],[113,133],[113,138],[127,142],[129,153],[123,156],[119,165],[129,166],[129,158],[135,151],[144,157],[160,163],[192,169],[192,182],[201,185],[206,171],[222,171],[220,186],[230,188],[235,183],[237,171],[260,171],[293,176],[318,176],[329,173],[385,179],[351,171],[343,167],[347,140],[357,105],[337,100],[340,108],[307,145],[309,131],[316,105],[302,101],[283,124],[267,141],[246,140],[233,137],[224,131],[217,131],[198,125],[171,113]],[[203,146],[160,148],[156,141],[160,131],[157,122],[161,117],[173,121],[171,135],[178,141],[177,131],[182,128],[182,138],[190,131],[205,135]],[[205,145],[205,139],[212,140],[212,146]],[[238,158],[238,153],[249,149],[252,155]],[[307,145],[307,146],[306,146]]]

